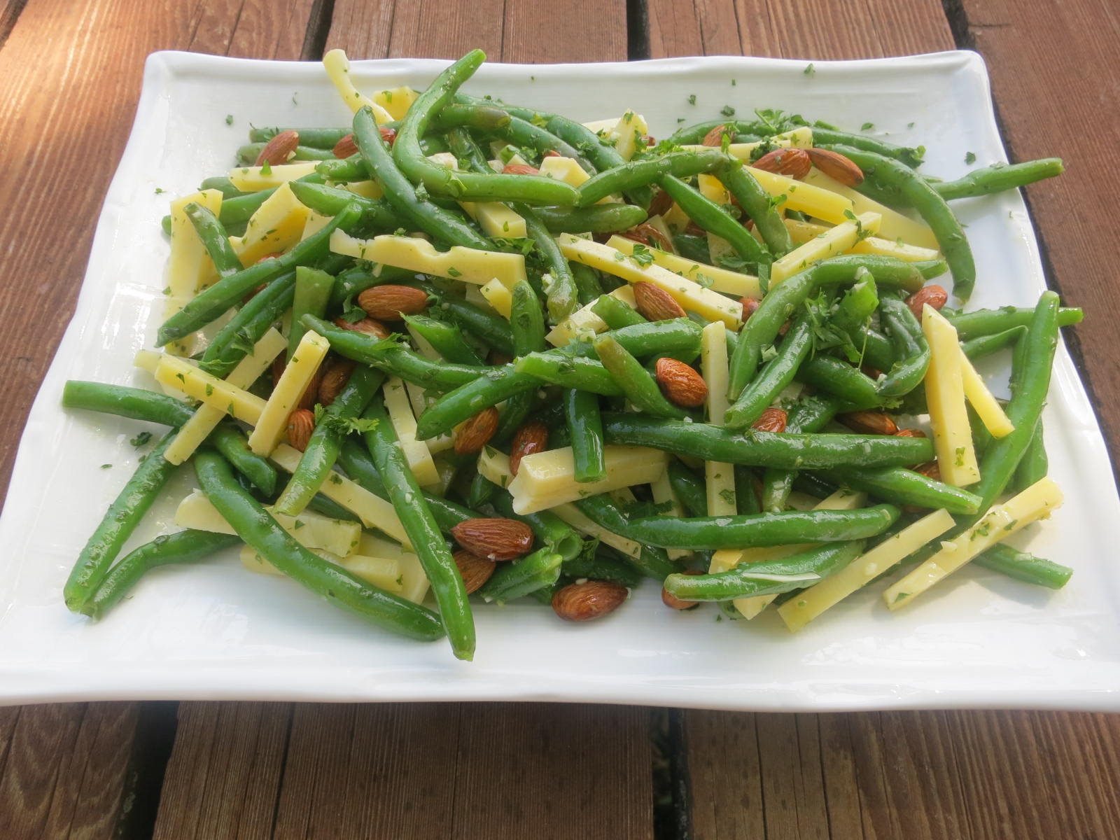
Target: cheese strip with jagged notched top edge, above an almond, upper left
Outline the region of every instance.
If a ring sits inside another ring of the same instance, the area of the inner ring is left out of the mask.
[[[382,262],[408,271],[477,286],[497,279],[512,289],[519,280],[528,280],[525,258],[522,254],[478,251],[460,245],[454,245],[441,253],[427,240],[412,236],[383,235],[360,240],[343,231],[334,231],[330,234],[330,250],[360,260]]]

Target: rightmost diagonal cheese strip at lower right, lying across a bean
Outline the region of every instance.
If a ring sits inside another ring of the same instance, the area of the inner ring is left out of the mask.
[[[1006,540],[1035,520],[1044,519],[1062,504],[1062,491],[1051,478],[1032,484],[1019,495],[992,507],[977,524],[942,548],[909,575],[894,584],[883,599],[890,609],[909,604],[939,580],[952,575],[972,558]]]

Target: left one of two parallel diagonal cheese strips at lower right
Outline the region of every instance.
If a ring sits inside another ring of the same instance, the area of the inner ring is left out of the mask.
[[[931,540],[941,536],[953,524],[949,511],[934,511],[923,516],[857,557],[840,571],[829,575],[820,584],[814,584],[796,598],[787,600],[777,608],[777,614],[790,632],[796,633],[824,610],[834,607]]]

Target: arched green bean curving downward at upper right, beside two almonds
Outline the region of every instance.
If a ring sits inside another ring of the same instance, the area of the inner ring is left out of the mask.
[[[976,264],[961,223],[945,204],[945,199],[917,172],[893,158],[850,146],[825,144],[822,148],[850,158],[871,183],[881,183],[900,192],[906,203],[930,225],[945,254],[953,274],[953,293],[961,300],[967,300],[976,284]]]

